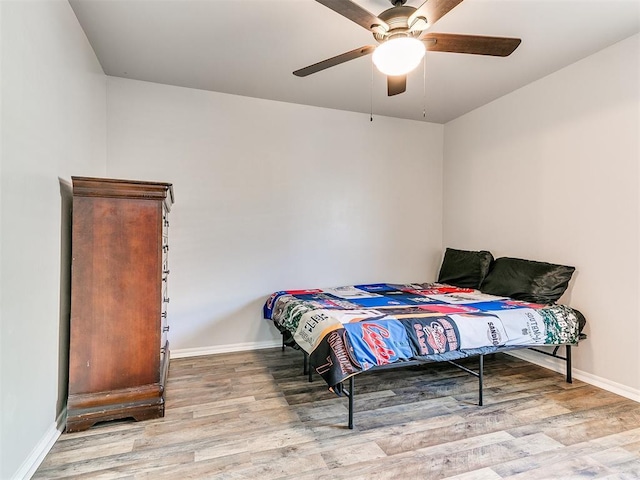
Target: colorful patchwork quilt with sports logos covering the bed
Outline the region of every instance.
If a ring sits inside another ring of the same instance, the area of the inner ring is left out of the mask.
[[[438,283],[377,283],[272,294],[264,317],[334,387],[372,367],[509,348],[575,345],[576,312]]]

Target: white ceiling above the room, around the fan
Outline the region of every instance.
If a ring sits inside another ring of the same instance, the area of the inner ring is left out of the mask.
[[[426,105],[426,120],[438,123],[640,31],[640,0],[465,0],[432,31],[519,37],[520,47],[506,58],[428,52],[407,92],[387,97],[370,56],[292,75],[375,44],[314,0],[69,2],[107,75],[416,120]],[[391,7],[356,2],[374,14]]]

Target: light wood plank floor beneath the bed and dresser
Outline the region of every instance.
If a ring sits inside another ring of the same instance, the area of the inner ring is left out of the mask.
[[[476,389],[448,364],[365,373],[348,430],[300,352],[176,359],[164,418],[65,433],[34,478],[640,479],[640,403],[507,355]]]

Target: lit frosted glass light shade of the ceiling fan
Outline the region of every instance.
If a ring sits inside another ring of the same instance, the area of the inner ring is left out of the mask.
[[[385,75],[404,75],[424,57],[424,43],[413,37],[387,40],[373,52],[373,63]]]

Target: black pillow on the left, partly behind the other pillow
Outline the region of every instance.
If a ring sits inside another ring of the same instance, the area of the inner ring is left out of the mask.
[[[493,262],[493,255],[486,250],[472,252],[447,248],[438,275],[439,283],[462,288],[479,288]]]

